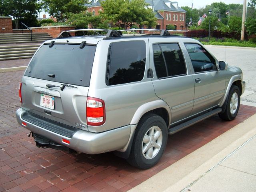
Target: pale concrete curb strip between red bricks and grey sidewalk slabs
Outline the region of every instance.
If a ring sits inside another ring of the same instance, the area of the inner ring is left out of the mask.
[[[129,192],[180,192],[256,134],[256,114]]]

